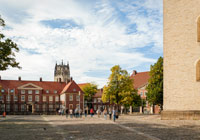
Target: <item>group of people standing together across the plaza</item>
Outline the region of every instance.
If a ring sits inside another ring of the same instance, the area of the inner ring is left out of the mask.
[[[59,115],[64,115],[64,109],[58,109],[57,111],[58,111]],[[93,108],[91,108],[89,111],[87,109],[85,109],[84,110],[85,117],[87,117],[88,113],[90,113],[91,117],[93,117],[94,114],[95,114],[95,111],[94,111]],[[99,108],[96,111],[96,114],[98,115],[99,118],[100,118],[101,115],[103,115],[105,120],[107,120],[107,115],[109,115],[110,120],[113,118],[113,121],[115,121],[119,117],[118,110],[115,109],[115,108],[113,108],[113,109],[109,108],[108,110],[107,110],[107,108],[104,108],[104,110],[102,110],[102,111]],[[66,115],[66,118],[68,118],[68,116],[70,116],[70,118],[79,118],[79,117],[82,118],[83,111],[80,108],[76,108],[76,109],[66,108],[65,109],[65,115]]]

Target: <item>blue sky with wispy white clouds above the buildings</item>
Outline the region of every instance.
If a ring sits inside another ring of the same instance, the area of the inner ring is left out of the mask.
[[[1,78],[53,81],[62,60],[77,83],[99,87],[114,65],[149,71],[163,56],[162,8],[162,0],[0,0],[1,31],[17,43],[22,67]]]

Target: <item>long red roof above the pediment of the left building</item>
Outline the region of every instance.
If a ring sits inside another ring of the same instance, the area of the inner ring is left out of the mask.
[[[58,93],[66,86],[65,82],[54,82],[54,81],[19,81],[19,80],[0,80],[0,85],[4,90],[17,89],[23,85],[34,84],[41,87],[43,90],[49,90],[49,93],[54,93],[57,90]],[[30,86],[30,85],[29,85]]]

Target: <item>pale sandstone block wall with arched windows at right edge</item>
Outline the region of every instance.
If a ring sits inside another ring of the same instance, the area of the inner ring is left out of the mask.
[[[199,0],[164,0],[162,119],[200,119],[199,5]]]

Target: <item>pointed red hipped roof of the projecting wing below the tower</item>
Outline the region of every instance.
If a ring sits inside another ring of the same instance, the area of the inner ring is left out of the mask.
[[[81,90],[79,85],[76,84],[76,82],[74,80],[72,80],[64,87],[64,89],[62,90],[61,94],[62,93],[77,93],[78,91],[83,93],[83,91]]]

